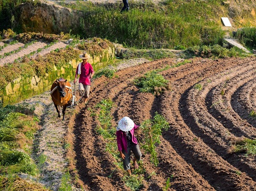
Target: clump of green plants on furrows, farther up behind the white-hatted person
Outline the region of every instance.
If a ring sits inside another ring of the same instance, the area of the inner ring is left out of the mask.
[[[140,87],[140,92],[154,93],[155,87],[167,87],[168,80],[165,80],[162,75],[157,73],[158,71],[156,70],[150,71],[134,81],[135,85]]]

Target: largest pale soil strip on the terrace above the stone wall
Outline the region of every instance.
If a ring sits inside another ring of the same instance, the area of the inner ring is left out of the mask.
[[[15,45],[15,44],[14,44]],[[6,63],[14,62],[17,58],[23,57],[33,51],[36,51],[37,49],[41,49],[42,47],[46,46],[47,44],[44,42],[35,42],[31,45],[29,45],[26,49],[23,49],[15,54],[6,56],[2,59],[0,59],[0,66],[3,66]]]

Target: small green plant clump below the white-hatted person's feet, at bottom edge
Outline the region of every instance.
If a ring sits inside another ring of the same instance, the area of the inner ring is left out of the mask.
[[[143,186],[143,177],[139,175],[124,176],[123,180],[125,185],[133,191],[139,190]]]

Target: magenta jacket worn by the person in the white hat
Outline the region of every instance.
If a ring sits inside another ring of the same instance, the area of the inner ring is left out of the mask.
[[[138,125],[134,124],[134,128],[130,130],[132,134],[132,141],[135,145],[138,144],[138,141],[134,136],[134,130],[136,130],[138,127],[139,127]],[[122,151],[124,149],[127,152],[127,139],[124,131],[119,130],[116,132],[116,140],[117,140],[118,151]]]

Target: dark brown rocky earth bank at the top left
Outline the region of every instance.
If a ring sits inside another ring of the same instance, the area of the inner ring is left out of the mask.
[[[78,31],[82,13],[51,2],[24,3],[19,6],[19,23],[23,32],[58,34]]]

